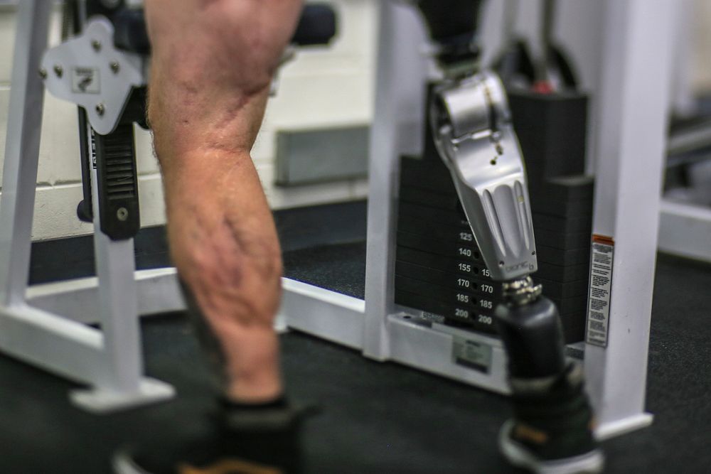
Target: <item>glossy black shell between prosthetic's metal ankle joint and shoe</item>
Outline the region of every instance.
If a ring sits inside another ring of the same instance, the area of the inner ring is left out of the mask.
[[[517,306],[501,303],[496,324],[512,379],[551,377],[565,370],[563,333],[555,304],[545,297]]]

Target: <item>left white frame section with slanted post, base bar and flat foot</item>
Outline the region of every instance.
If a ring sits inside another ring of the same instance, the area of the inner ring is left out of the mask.
[[[26,301],[44,95],[38,70],[51,6],[19,5],[0,199],[0,351],[90,385],[93,392],[73,399],[93,411],[167,399],[171,387],[141,377],[131,242],[112,247],[97,235],[103,330]]]

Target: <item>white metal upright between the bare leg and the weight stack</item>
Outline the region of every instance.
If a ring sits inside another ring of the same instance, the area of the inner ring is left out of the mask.
[[[427,63],[422,22],[406,4],[380,2],[375,113],[370,133],[368,242],[365,255],[365,334],[363,354],[385,360],[387,315],[395,312],[395,225],[397,176],[405,126],[422,129]],[[419,143],[417,143],[419,146]]]

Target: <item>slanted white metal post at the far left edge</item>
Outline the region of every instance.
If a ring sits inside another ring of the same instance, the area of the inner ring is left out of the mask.
[[[0,305],[22,303],[32,243],[50,0],[24,0],[17,17],[7,142],[0,199]]]

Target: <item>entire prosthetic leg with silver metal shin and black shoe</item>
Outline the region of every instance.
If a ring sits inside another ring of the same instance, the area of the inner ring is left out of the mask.
[[[501,429],[501,452],[536,473],[597,473],[603,456],[592,436],[582,369],[565,360],[557,308],[530,278],[537,269],[535,239],[506,92],[492,72],[477,72],[481,2],[448,3],[446,10],[442,2],[418,4],[444,72],[429,104],[430,122],[481,256],[503,285],[495,315],[508,353],[514,417]]]

